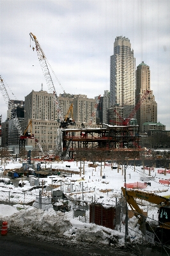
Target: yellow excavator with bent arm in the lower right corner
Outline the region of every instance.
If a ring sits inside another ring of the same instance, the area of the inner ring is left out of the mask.
[[[155,241],[170,243],[170,200],[168,198],[147,193],[144,191],[121,188],[126,202],[134,212],[134,216],[138,218],[139,229],[145,234],[146,230],[155,233]],[[158,207],[158,225],[150,225],[146,222],[146,214],[139,207],[136,198],[146,200]]]

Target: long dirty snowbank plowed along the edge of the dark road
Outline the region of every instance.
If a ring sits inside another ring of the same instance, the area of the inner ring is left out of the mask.
[[[17,207],[18,208],[18,207]],[[0,221],[8,222],[8,230],[22,236],[56,239],[63,237],[73,243],[124,244],[124,234],[92,223],[69,219],[63,212],[54,209],[43,211],[29,207],[17,211],[10,205],[0,205]]]

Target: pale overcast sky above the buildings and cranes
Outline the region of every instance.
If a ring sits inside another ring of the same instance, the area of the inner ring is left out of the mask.
[[[1,0],[0,7],[0,74],[10,99],[24,100],[42,83],[49,91],[33,41],[30,48],[30,32],[61,83],[52,77],[58,96],[65,90],[91,99],[110,90],[110,56],[116,36],[122,35],[130,39],[136,67],[142,61],[150,66],[158,121],[170,130],[169,0]],[[1,94],[0,108],[4,122]]]

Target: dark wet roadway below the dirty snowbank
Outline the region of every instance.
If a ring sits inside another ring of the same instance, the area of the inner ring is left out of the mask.
[[[109,248],[109,246],[95,246],[95,244],[77,243],[73,244],[63,239],[56,241],[40,241],[31,237],[8,234],[0,237],[1,256],[84,256],[84,255],[129,255],[131,252]]]

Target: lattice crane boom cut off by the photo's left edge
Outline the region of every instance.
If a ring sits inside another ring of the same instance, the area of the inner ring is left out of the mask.
[[[8,92],[6,91],[6,86],[5,86],[4,79],[2,78],[2,76],[0,76],[0,79],[1,79],[0,90],[1,90],[1,93],[3,95],[4,101],[6,102],[6,105],[9,109],[9,111],[10,111],[10,115],[12,117],[13,124],[15,125],[15,127],[16,127],[16,129],[19,133],[19,136],[22,136],[22,129],[20,127],[19,119],[17,118],[17,115],[15,113],[15,109],[13,108],[13,105],[12,105],[12,102],[11,102],[10,97],[8,95]]]

